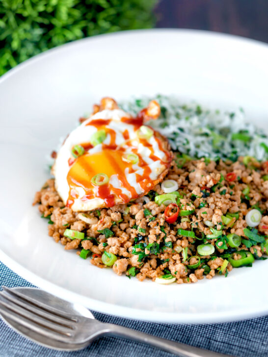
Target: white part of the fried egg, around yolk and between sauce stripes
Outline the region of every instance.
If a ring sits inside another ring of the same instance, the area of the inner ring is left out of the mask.
[[[136,147],[138,148],[138,153],[142,156],[144,161],[149,165],[151,169],[150,179],[157,179],[161,172],[165,169],[165,167],[161,163],[161,159],[165,156],[165,153],[161,151],[159,148],[158,142],[154,136],[149,139],[150,144],[153,146],[155,156],[159,157],[159,160],[154,161],[149,158],[150,150],[143,146],[136,137],[136,132],[134,125],[124,123],[121,121],[123,117],[131,117],[128,113],[124,112],[121,109],[113,109],[108,110],[105,109],[101,112],[98,112],[84,121],[79,127],[74,129],[69,136],[66,138],[65,142],[61,146],[60,150],[57,153],[57,157],[54,163],[54,177],[55,177],[55,187],[62,198],[64,204],[67,203],[69,197],[69,184],[67,181],[67,175],[70,170],[70,166],[68,160],[72,157],[72,149],[74,145],[78,145],[81,143],[90,142],[90,138],[92,134],[97,131],[97,128],[94,126],[87,125],[92,120],[96,119],[111,119],[110,123],[107,125],[107,128],[111,128],[116,132],[115,143],[117,146],[123,146],[126,149],[126,152],[131,153],[131,148],[129,146],[124,146],[125,139],[123,136],[123,132],[127,129],[129,133],[130,140],[133,140],[133,144],[136,143]],[[108,134],[103,144],[109,145],[110,143],[110,135]],[[88,150],[88,153],[98,153],[102,151],[102,144],[95,146],[94,148]],[[140,187],[139,183],[136,181],[136,174],[142,175],[144,169],[139,167],[138,164],[134,164],[133,168],[135,170],[134,173],[129,173],[128,168],[125,171],[126,178],[128,182],[134,187],[137,195],[142,195],[144,191]],[[115,188],[120,188],[122,193],[127,195],[130,199],[132,199],[132,194],[125,187],[122,187],[120,180],[117,175],[112,175],[109,178],[109,185]],[[74,203],[72,204],[73,211],[88,211],[97,209],[100,207],[104,207],[105,201],[101,198],[94,198],[87,201],[81,201],[81,198],[85,195],[85,191],[82,187],[77,187],[76,191],[78,193],[78,198],[74,199]],[[115,198],[115,203],[120,203],[119,198]]]

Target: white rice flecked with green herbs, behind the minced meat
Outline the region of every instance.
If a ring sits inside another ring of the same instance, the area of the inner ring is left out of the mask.
[[[260,144],[268,147],[268,137],[259,128],[245,121],[243,110],[234,112],[208,110],[197,103],[182,103],[178,98],[157,95],[155,98],[132,98],[119,105],[127,112],[137,114],[148,102],[156,99],[161,105],[161,116],[148,125],[169,139],[174,151],[191,157],[231,158],[250,155],[258,160],[268,159],[268,153]],[[234,140],[232,134],[249,136],[244,142]]]

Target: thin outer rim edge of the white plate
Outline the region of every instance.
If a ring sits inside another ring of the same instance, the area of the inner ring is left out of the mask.
[[[210,38],[227,38],[232,41],[243,42],[244,44],[258,46],[268,50],[268,44],[265,42],[257,41],[254,39],[249,39],[246,37],[241,37],[237,35],[231,35],[220,32],[212,32],[206,30],[194,30],[194,29],[176,29],[176,28],[152,28],[152,29],[137,29],[137,30],[126,30],[126,31],[118,31],[113,33],[106,33],[91,37],[86,37],[80,40],[72,41],[66,43],[64,45],[55,47],[48,51],[42,52],[33,56],[26,61],[20,63],[13,69],[9,70],[0,78],[0,84],[3,83],[9,77],[16,75],[18,71],[24,70],[27,66],[31,65],[31,63],[35,63],[42,60],[46,56],[52,55],[56,51],[62,51],[62,49],[74,47],[83,42],[93,42],[101,40],[103,37],[115,37],[115,36],[128,36],[129,34],[138,34],[142,35],[147,34],[148,32],[158,32],[158,33],[173,33],[180,36],[184,34],[198,35],[198,36],[206,36]],[[163,322],[163,323],[217,323],[217,322],[227,322],[227,321],[235,321],[242,320],[251,317],[256,317],[260,315],[264,315],[268,313],[268,306],[256,306],[251,307],[246,310],[236,310],[235,312],[225,314],[225,312],[208,312],[208,313],[199,313],[199,314],[189,314],[189,313],[174,313],[174,312],[161,312],[161,311],[146,311],[142,309],[137,309],[133,307],[120,306],[116,304],[106,303],[102,301],[98,301],[96,299],[90,297],[84,297],[79,293],[72,292],[64,287],[60,287],[53,282],[46,280],[44,278],[39,277],[37,274],[31,272],[20,263],[17,263],[11,257],[9,257],[6,253],[4,253],[0,248],[0,260],[3,264],[5,264],[8,268],[14,271],[16,274],[21,276],[23,279],[31,282],[32,284],[43,288],[44,290],[61,297],[62,299],[69,301],[76,301],[81,305],[90,306],[90,309],[95,311],[112,314],[124,318],[138,319],[143,321],[151,321],[151,322]]]

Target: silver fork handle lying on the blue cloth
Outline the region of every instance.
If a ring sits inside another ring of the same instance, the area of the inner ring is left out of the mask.
[[[114,336],[125,337],[137,342],[147,343],[153,347],[173,353],[181,357],[226,357],[226,355],[218,354],[212,351],[203,350],[201,348],[192,347],[183,343],[173,342],[161,337],[149,335],[147,333],[131,330],[123,326],[114,324],[104,324],[104,333]]]

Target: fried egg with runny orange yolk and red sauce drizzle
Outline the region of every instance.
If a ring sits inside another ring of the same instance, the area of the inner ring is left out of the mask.
[[[163,179],[172,153],[143,119],[117,107],[104,109],[68,135],[53,167],[67,207],[78,212],[126,204]]]

